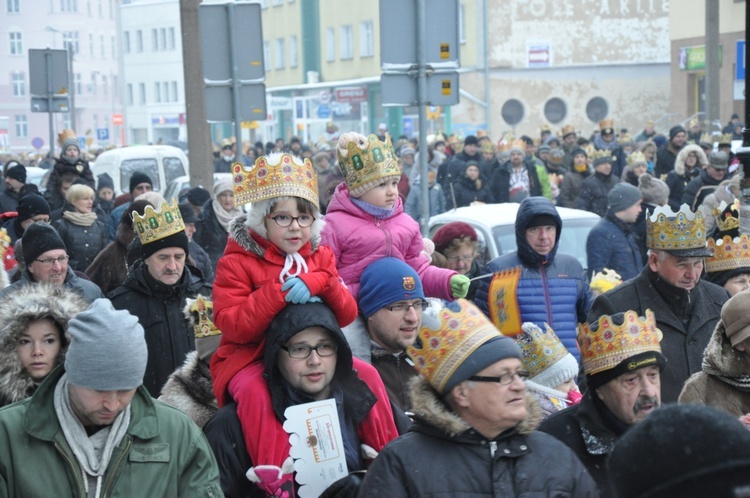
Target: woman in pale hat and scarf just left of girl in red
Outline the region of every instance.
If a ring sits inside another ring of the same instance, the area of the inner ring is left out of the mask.
[[[208,253],[214,271],[227,245],[229,222],[241,214],[242,209],[234,206],[232,178],[217,180],[214,183],[213,201],[203,208],[200,228],[193,235],[193,240]]]

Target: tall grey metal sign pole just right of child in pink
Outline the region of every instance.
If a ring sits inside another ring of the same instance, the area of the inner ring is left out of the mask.
[[[417,104],[419,107],[419,186],[421,212],[419,225],[422,235],[428,235],[430,221],[430,191],[427,179],[427,9],[425,0],[417,0]]]

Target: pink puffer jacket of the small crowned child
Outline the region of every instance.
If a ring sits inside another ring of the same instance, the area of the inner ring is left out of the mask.
[[[357,207],[342,183],[336,187],[325,221],[321,244],[333,251],[339,274],[355,299],[365,268],[387,257],[400,259],[414,268],[426,296],[453,299],[450,279],[457,273],[430,265],[430,259],[422,253],[424,242],[419,224],[404,213],[401,201],[396,202],[389,218],[378,219]]]

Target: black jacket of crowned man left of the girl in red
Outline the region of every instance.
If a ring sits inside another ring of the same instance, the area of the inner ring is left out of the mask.
[[[138,260],[125,282],[109,293],[112,305],[138,317],[146,331],[148,362],[143,385],[151,396],[159,396],[172,372],[195,349],[193,328],[182,310],[185,300],[198,294],[210,297],[211,286],[194,267],[185,265],[179,282],[167,286],[148,273],[143,260]]]

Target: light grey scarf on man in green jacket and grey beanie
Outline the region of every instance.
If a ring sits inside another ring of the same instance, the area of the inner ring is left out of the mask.
[[[90,495],[89,477],[95,477],[96,489],[90,496],[98,498],[101,493],[102,478],[109,465],[109,460],[112,458],[112,452],[125,437],[128,426],[130,426],[130,405],[115,418],[112,425],[89,436],[70,405],[69,385],[68,374],[63,374],[55,387],[55,413],[60,421],[65,439],[81,466],[86,494]]]

